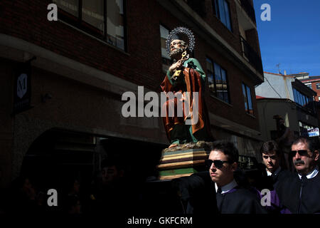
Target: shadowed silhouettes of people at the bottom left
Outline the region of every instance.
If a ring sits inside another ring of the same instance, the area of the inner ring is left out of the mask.
[[[21,175],[1,192],[0,213],[8,214],[114,214],[126,212],[134,204],[137,192],[128,192],[130,182],[125,177],[124,167],[117,160],[104,160],[102,170],[89,184],[82,182],[80,175],[59,177],[53,181],[56,199],[50,199],[48,187],[34,175]],[[41,185],[42,184],[42,185]],[[54,197],[54,196],[53,196]],[[56,200],[56,207],[48,201]],[[123,205],[132,202],[126,207]]]

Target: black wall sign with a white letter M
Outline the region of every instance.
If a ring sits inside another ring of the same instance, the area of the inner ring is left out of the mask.
[[[14,76],[13,115],[31,108],[31,61],[18,63]]]

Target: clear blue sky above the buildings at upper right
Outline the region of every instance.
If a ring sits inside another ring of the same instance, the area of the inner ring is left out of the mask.
[[[253,0],[264,71],[320,76],[320,0]],[[262,21],[270,4],[271,21]]]

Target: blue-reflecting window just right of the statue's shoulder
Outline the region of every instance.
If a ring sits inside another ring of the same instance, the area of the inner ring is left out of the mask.
[[[228,78],[227,73],[217,63],[214,63],[210,58],[206,59],[206,68],[208,73],[209,90],[216,98],[223,100],[225,103],[230,103],[228,93]]]

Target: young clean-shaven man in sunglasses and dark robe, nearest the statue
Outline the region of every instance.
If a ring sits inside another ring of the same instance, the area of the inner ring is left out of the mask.
[[[186,212],[194,214],[266,213],[257,195],[235,182],[238,150],[231,142],[216,141],[210,148],[206,166],[209,172],[181,177],[178,182]]]

